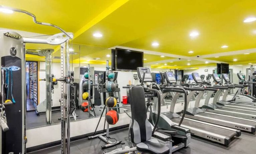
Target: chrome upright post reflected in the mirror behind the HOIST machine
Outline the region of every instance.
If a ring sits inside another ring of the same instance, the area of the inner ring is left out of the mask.
[[[45,57],[45,67],[46,67],[46,124],[51,124],[51,66],[52,65],[52,54]]]

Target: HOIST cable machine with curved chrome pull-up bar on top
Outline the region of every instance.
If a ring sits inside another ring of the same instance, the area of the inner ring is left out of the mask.
[[[20,36],[18,33],[10,30],[0,31],[0,63],[3,67],[16,66],[20,69],[17,71],[12,71],[13,78],[13,97],[15,98],[15,105],[13,102],[8,102],[9,105],[5,105],[6,118],[8,119],[9,131],[2,133],[0,131],[0,153],[14,153],[14,154],[24,154],[26,153],[25,144],[27,142],[26,138],[26,124],[25,124],[25,104],[26,104],[26,77],[25,77],[25,44],[26,43],[42,43],[59,45],[61,44],[61,74],[62,80],[61,88],[61,153],[70,153],[70,119],[67,115],[66,106],[69,108],[70,100],[70,71],[69,71],[69,39],[73,38],[72,33],[67,33],[60,27],[50,24],[39,22],[36,20],[36,16],[25,10],[20,10],[16,8],[6,8],[0,6],[7,10],[12,10],[15,12],[25,13],[33,18],[36,24],[52,26],[62,33],[50,36],[47,39],[36,39],[36,38],[25,38]],[[1,75],[2,79],[5,76]],[[2,80],[0,81],[2,82]],[[1,84],[2,85],[2,84]],[[65,87],[64,87],[65,86]],[[3,94],[5,94],[5,89],[1,88]],[[10,95],[7,93],[7,95]],[[66,97],[64,97],[66,96]],[[8,96],[9,97],[9,96]],[[11,97],[11,96],[10,96]],[[3,103],[1,101],[1,103]],[[51,101],[47,102],[47,107],[50,107]],[[46,109],[46,112],[49,109]],[[47,114],[47,113],[46,113]],[[67,124],[66,124],[67,117]],[[66,127],[67,125],[67,127]],[[67,137],[66,137],[67,136]],[[67,142],[66,142],[67,141]]]

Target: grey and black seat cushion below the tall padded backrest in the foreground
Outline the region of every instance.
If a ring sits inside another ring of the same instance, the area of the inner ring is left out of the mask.
[[[137,150],[141,152],[148,152],[151,154],[169,154],[170,153],[170,149],[167,146],[160,144],[158,140],[153,138],[148,141],[141,142],[136,146],[137,146]]]

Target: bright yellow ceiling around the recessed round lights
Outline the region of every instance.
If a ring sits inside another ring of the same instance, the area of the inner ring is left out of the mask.
[[[80,49],[83,62],[101,56],[99,60],[90,60],[91,63],[101,64],[107,59],[105,55],[110,53],[108,48],[113,46],[183,56],[256,48],[256,22],[243,22],[249,16],[256,16],[255,4],[255,0],[43,0],[40,3],[35,0],[1,0],[0,5],[30,11],[38,21],[56,24],[73,32],[74,48],[75,44],[88,46]],[[3,28],[42,34],[59,33],[55,28],[33,23],[30,16],[22,13],[0,13],[0,25]],[[189,33],[194,30],[200,35],[191,38]],[[93,37],[94,32],[101,32],[103,37]],[[160,45],[153,47],[151,44],[154,41]],[[222,45],[229,47],[221,48]],[[39,46],[57,49],[55,46],[44,45],[27,45],[27,48],[36,49]],[[190,50],[194,53],[189,54]],[[58,55],[58,51],[54,53],[54,56]],[[253,63],[252,55],[237,55],[238,61],[234,64]],[[233,64],[230,61],[233,57],[209,59]],[[144,63],[172,59],[146,54],[144,58],[147,59]],[[73,55],[74,61],[78,59],[78,54]]]

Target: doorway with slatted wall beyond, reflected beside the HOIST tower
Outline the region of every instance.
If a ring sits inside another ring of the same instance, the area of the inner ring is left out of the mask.
[[[26,110],[35,111],[38,105],[38,63],[26,61]]]

